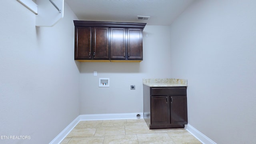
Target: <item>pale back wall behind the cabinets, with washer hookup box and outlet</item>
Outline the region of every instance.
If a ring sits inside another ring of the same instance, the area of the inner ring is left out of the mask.
[[[146,26],[142,62],[82,62],[80,114],[143,112],[142,78],[170,77],[169,40],[170,26]],[[110,78],[110,87],[98,87],[99,78]]]

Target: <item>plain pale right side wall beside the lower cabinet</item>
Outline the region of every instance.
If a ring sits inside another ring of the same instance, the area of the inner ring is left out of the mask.
[[[198,0],[171,26],[188,123],[218,144],[256,142],[256,1]]]

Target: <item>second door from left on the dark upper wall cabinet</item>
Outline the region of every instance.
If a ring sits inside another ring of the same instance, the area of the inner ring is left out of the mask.
[[[94,27],[93,58],[108,59],[108,28]]]

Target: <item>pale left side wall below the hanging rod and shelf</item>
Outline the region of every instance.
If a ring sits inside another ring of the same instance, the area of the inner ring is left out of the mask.
[[[79,63],[74,19],[36,28],[36,15],[17,0],[0,4],[0,136],[4,144],[47,144],[79,115]],[[78,66],[77,66],[78,65]]]

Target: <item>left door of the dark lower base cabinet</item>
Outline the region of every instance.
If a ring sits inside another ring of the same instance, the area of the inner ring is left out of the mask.
[[[170,102],[168,96],[151,96],[151,124],[170,125]]]

